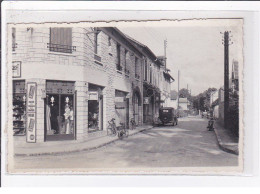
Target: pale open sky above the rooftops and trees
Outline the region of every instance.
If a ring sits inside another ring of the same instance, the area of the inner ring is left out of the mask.
[[[224,84],[223,34],[231,31],[232,45],[229,47],[230,76],[232,60],[243,63],[242,21],[221,19],[208,21],[184,21],[164,25],[132,25],[118,27],[122,32],[148,46],[155,55],[164,55],[164,40],[167,39],[167,68],[175,82],[171,88],[188,88],[197,95],[209,87],[219,89]]]

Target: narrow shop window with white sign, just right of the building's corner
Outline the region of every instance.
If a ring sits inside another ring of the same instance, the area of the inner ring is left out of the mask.
[[[88,132],[103,130],[103,87],[89,84]]]

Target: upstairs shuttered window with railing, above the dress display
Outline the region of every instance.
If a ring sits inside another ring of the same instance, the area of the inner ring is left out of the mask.
[[[76,47],[72,46],[72,28],[50,28],[50,51],[72,53]]]

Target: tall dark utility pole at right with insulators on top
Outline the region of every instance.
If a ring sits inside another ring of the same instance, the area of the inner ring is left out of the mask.
[[[229,45],[233,44],[229,39],[230,31],[224,32],[224,127],[228,127],[228,108],[229,108]]]

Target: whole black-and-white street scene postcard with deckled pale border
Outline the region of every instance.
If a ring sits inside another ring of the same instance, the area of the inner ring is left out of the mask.
[[[8,173],[243,172],[243,19],[6,33]]]

